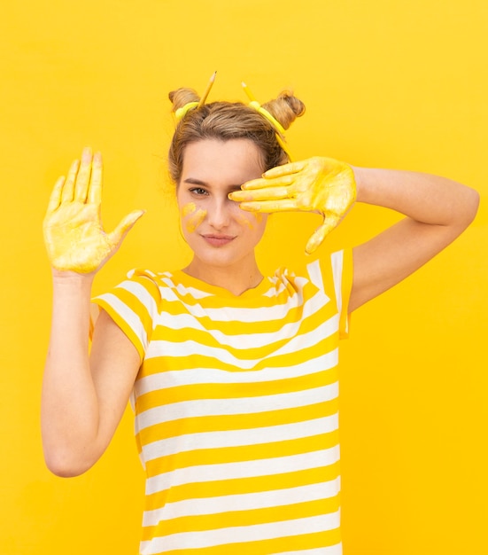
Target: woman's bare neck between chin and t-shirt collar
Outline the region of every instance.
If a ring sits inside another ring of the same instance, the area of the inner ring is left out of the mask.
[[[248,289],[257,287],[262,281],[263,275],[259,271],[258,264],[255,260],[252,262],[244,265],[245,267],[242,264],[236,267],[208,266],[194,257],[182,271],[191,277],[205,281],[208,285],[222,287],[238,296]]]

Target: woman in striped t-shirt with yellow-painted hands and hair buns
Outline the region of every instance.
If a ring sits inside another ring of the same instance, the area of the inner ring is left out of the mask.
[[[147,473],[141,553],[337,555],[347,314],[452,242],[474,218],[477,193],[325,158],[283,165],[280,124],[304,111],[288,93],[262,108],[205,105],[190,90],[170,98],[181,121],[169,166],[193,258],[183,270],[133,270],[97,298],[90,354],[93,278],[142,213],[104,233],[102,160],[89,149],[51,195],[47,465],[61,476],[89,469],[132,392]],[[254,247],[268,212],[324,215],[312,252],[355,200],[406,217],[352,253],[320,254],[300,275],[263,277]]]

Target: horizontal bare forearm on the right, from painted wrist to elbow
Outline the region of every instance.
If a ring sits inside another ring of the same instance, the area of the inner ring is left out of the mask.
[[[391,208],[416,222],[460,232],[476,215],[478,193],[445,177],[390,169],[353,171],[358,202]]]

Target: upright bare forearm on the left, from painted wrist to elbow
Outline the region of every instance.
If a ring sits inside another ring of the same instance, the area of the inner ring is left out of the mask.
[[[67,272],[53,278],[42,431],[46,462],[55,473],[65,473],[73,460],[82,465],[97,438],[97,392],[89,368],[91,284],[92,277]]]

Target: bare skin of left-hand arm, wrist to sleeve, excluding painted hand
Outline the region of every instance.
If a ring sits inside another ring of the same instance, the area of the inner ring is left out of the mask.
[[[46,465],[59,476],[94,465],[112,439],[141,363],[111,317],[97,318],[89,356],[92,276],[53,272],[41,423]]]

